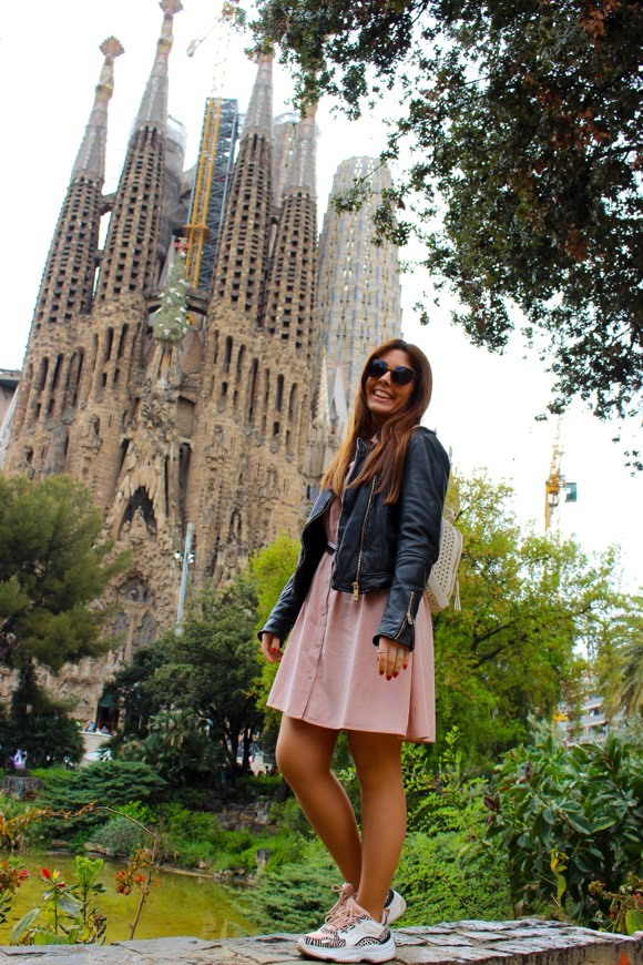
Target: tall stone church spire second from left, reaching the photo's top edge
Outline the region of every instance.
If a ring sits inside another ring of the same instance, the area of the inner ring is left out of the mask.
[[[159,226],[165,167],[167,58],[181,0],[161,0],[163,26],[141,101],[101,262],[96,301],[146,295],[159,276]]]

